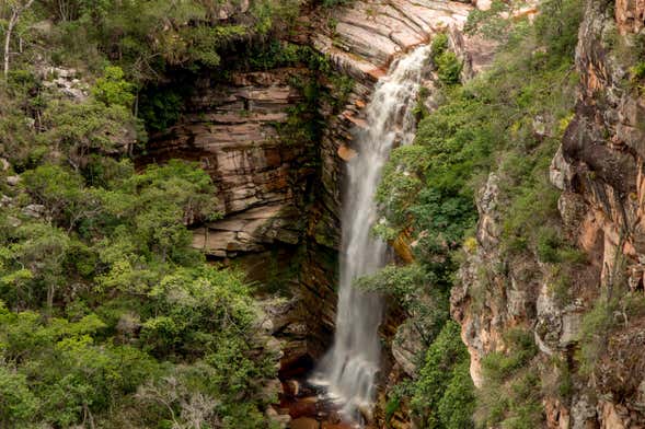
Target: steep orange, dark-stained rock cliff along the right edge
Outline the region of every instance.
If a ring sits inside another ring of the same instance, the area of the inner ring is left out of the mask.
[[[645,100],[629,71],[642,60],[642,39],[635,36],[642,27],[642,2],[617,1],[614,11],[598,1],[587,5],[576,56],[579,100],[562,158],[554,160],[563,218],[575,218],[577,209],[575,236],[600,270],[600,281],[587,288],[621,300],[623,311],[602,333],[610,338],[586,385],[598,397],[590,420],[604,428],[645,424],[645,320],[642,312],[625,310],[621,297],[642,299],[645,268]]]

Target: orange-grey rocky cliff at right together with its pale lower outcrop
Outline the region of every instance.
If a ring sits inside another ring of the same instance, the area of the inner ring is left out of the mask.
[[[500,254],[495,174],[477,196],[477,248],[462,266],[451,298],[475,384],[482,384],[482,358],[503,350],[504,333],[512,327],[532,332],[540,349],[534,368],[542,380],[562,376],[554,359],[566,362],[571,395],[543,396],[552,428],[645,424],[645,318],[629,303],[642,300],[645,273],[645,102],[629,71],[638,55],[634,51],[643,49],[635,34],[643,23],[642,2],[586,4],[576,53],[581,82],[575,115],[550,172],[562,192],[562,231],[588,259],[572,279],[572,299],[556,297],[549,267],[535,257]],[[580,343],[583,325],[601,304],[610,314],[594,335],[592,368],[583,372],[580,350],[588,347]]]

